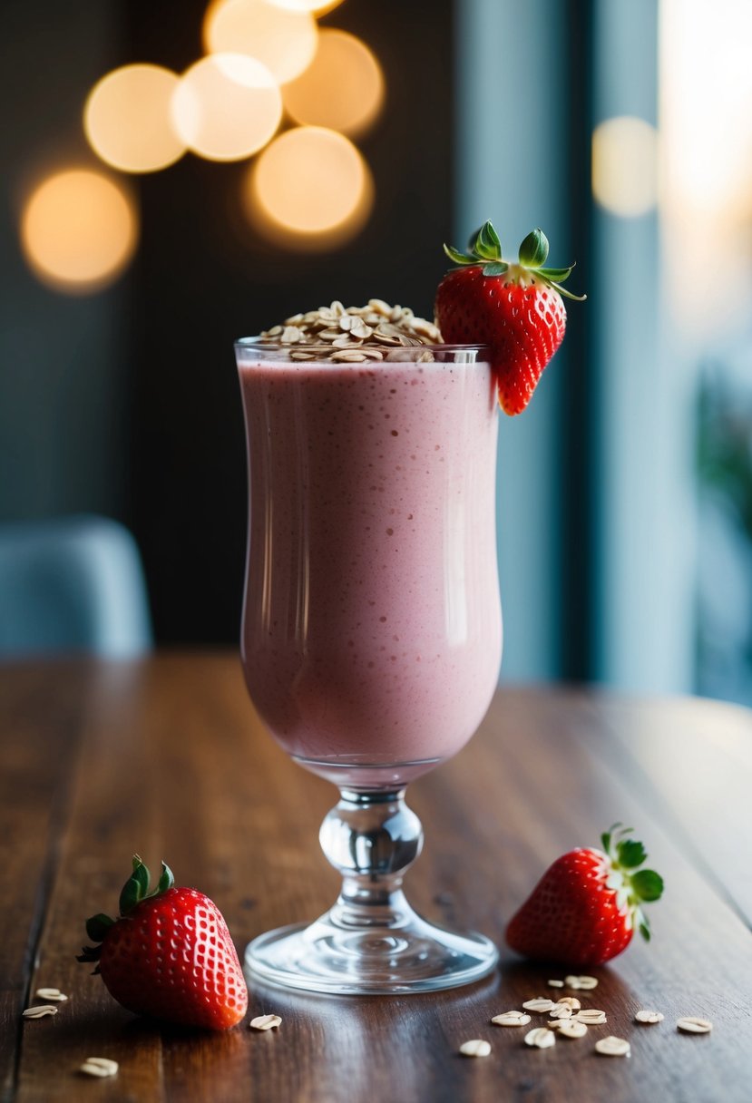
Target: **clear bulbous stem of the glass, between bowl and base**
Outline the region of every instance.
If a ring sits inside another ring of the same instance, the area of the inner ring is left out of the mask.
[[[332,923],[362,930],[398,929],[410,921],[415,913],[402,893],[402,877],[422,849],[423,831],[405,803],[405,789],[342,789],[319,838],[342,875],[340,897],[329,913]]]

